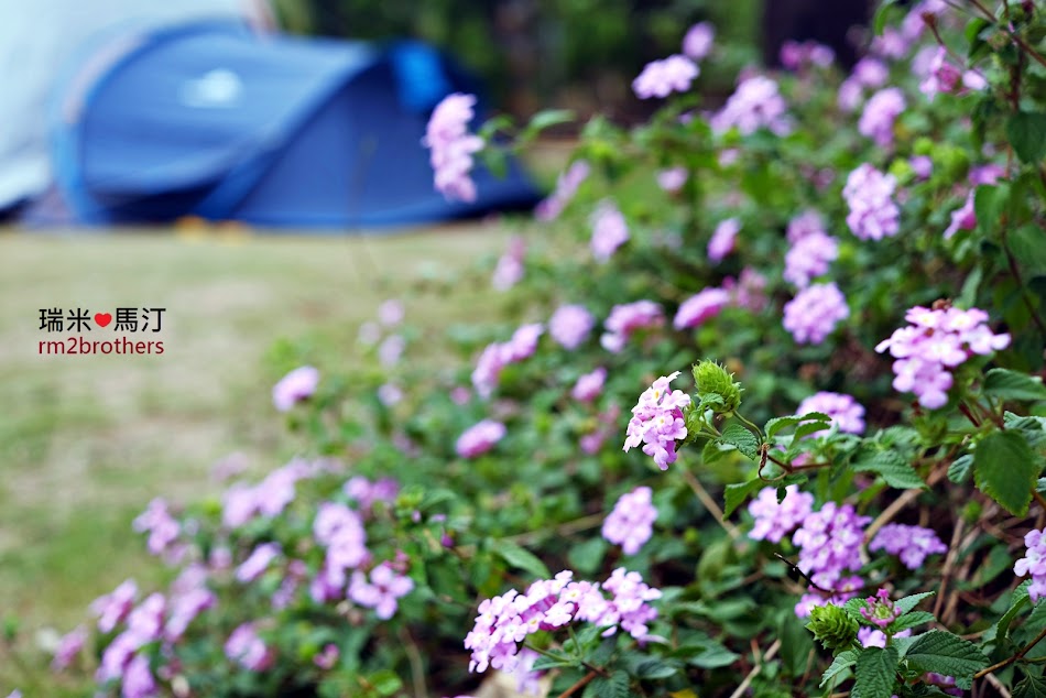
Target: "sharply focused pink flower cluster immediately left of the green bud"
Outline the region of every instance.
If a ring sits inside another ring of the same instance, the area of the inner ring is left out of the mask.
[[[663,375],[643,391],[625,430],[624,450],[643,444],[643,452],[662,470],[676,461],[676,441],[687,434],[683,408],[689,406],[690,396],[668,388],[678,375],[678,371]]]

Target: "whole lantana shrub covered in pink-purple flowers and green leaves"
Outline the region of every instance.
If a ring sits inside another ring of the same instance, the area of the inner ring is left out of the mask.
[[[57,670],[127,698],[493,672],[563,698],[1046,695],[1043,7],[886,2],[852,70],[791,43],[719,108],[713,29],[679,36],[631,85],[650,120],[585,124],[486,269],[501,323],[450,328],[433,369],[407,298],[362,328],[373,367],[280,381],[305,455],[151,504],[174,581],[96,601]],[[425,141],[462,199],[565,118],[473,103]]]

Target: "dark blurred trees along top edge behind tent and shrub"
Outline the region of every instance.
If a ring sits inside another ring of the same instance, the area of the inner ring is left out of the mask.
[[[818,39],[839,46],[847,30],[867,19],[863,0],[273,0],[273,4],[280,24],[292,33],[431,42],[477,72],[493,103],[516,116],[560,107],[581,116],[602,111],[624,120],[645,117],[650,109],[630,89],[639,68],[678,53],[686,30],[697,22],[716,26],[719,53],[702,66],[701,76],[702,91],[715,99],[732,91],[744,65],[764,57],[772,63],[784,39]],[[845,50],[841,53],[846,55]]]

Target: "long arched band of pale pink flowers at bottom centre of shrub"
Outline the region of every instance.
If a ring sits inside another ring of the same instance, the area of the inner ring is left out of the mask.
[[[608,599],[603,592],[609,592]],[[649,637],[647,623],[657,611],[647,602],[661,598],[661,591],[643,582],[638,572],[619,567],[602,585],[574,581],[574,572],[564,570],[554,579],[540,579],[525,593],[514,589],[479,604],[476,624],[465,639],[471,650],[470,672],[493,667],[514,672],[520,663],[519,644],[538,631],[555,631],[576,621],[604,628],[603,636],[618,628],[636,640]]]

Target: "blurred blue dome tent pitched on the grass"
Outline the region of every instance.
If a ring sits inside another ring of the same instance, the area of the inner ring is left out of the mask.
[[[433,107],[476,91],[425,44],[259,36],[195,24],[108,42],[52,113],[54,171],[76,220],[182,216],[273,227],[381,227],[531,206],[510,162],[479,196],[433,189]]]

